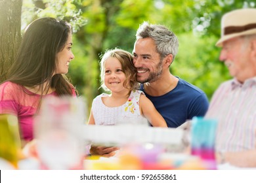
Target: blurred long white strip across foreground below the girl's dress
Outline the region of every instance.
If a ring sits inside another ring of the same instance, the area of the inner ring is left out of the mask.
[[[87,125],[83,129],[83,137],[99,146],[152,143],[161,144],[170,152],[183,150],[182,129],[137,124]]]

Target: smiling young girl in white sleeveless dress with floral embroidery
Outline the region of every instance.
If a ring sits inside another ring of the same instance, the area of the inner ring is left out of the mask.
[[[108,50],[101,59],[100,71],[102,88],[110,94],[95,97],[89,124],[142,123],[147,119],[155,127],[167,127],[152,102],[137,90],[132,54],[121,49]]]

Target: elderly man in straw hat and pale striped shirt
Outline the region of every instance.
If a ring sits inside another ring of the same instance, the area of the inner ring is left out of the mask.
[[[215,118],[219,163],[256,167],[256,9],[224,14],[219,59],[234,78],[214,93],[205,118]]]

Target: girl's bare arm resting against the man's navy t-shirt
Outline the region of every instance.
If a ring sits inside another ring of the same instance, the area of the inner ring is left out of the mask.
[[[140,95],[140,112],[154,127],[167,127],[163,116],[145,95]]]

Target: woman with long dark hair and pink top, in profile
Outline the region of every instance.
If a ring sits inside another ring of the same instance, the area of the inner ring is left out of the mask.
[[[0,114],[18,118],[20,138],[33,139],[33,116],[49,95],[76,96],[65,76],[72,53],[72,28],[55,18],[39,18],[25,30],[7,80],[0,85]]]

